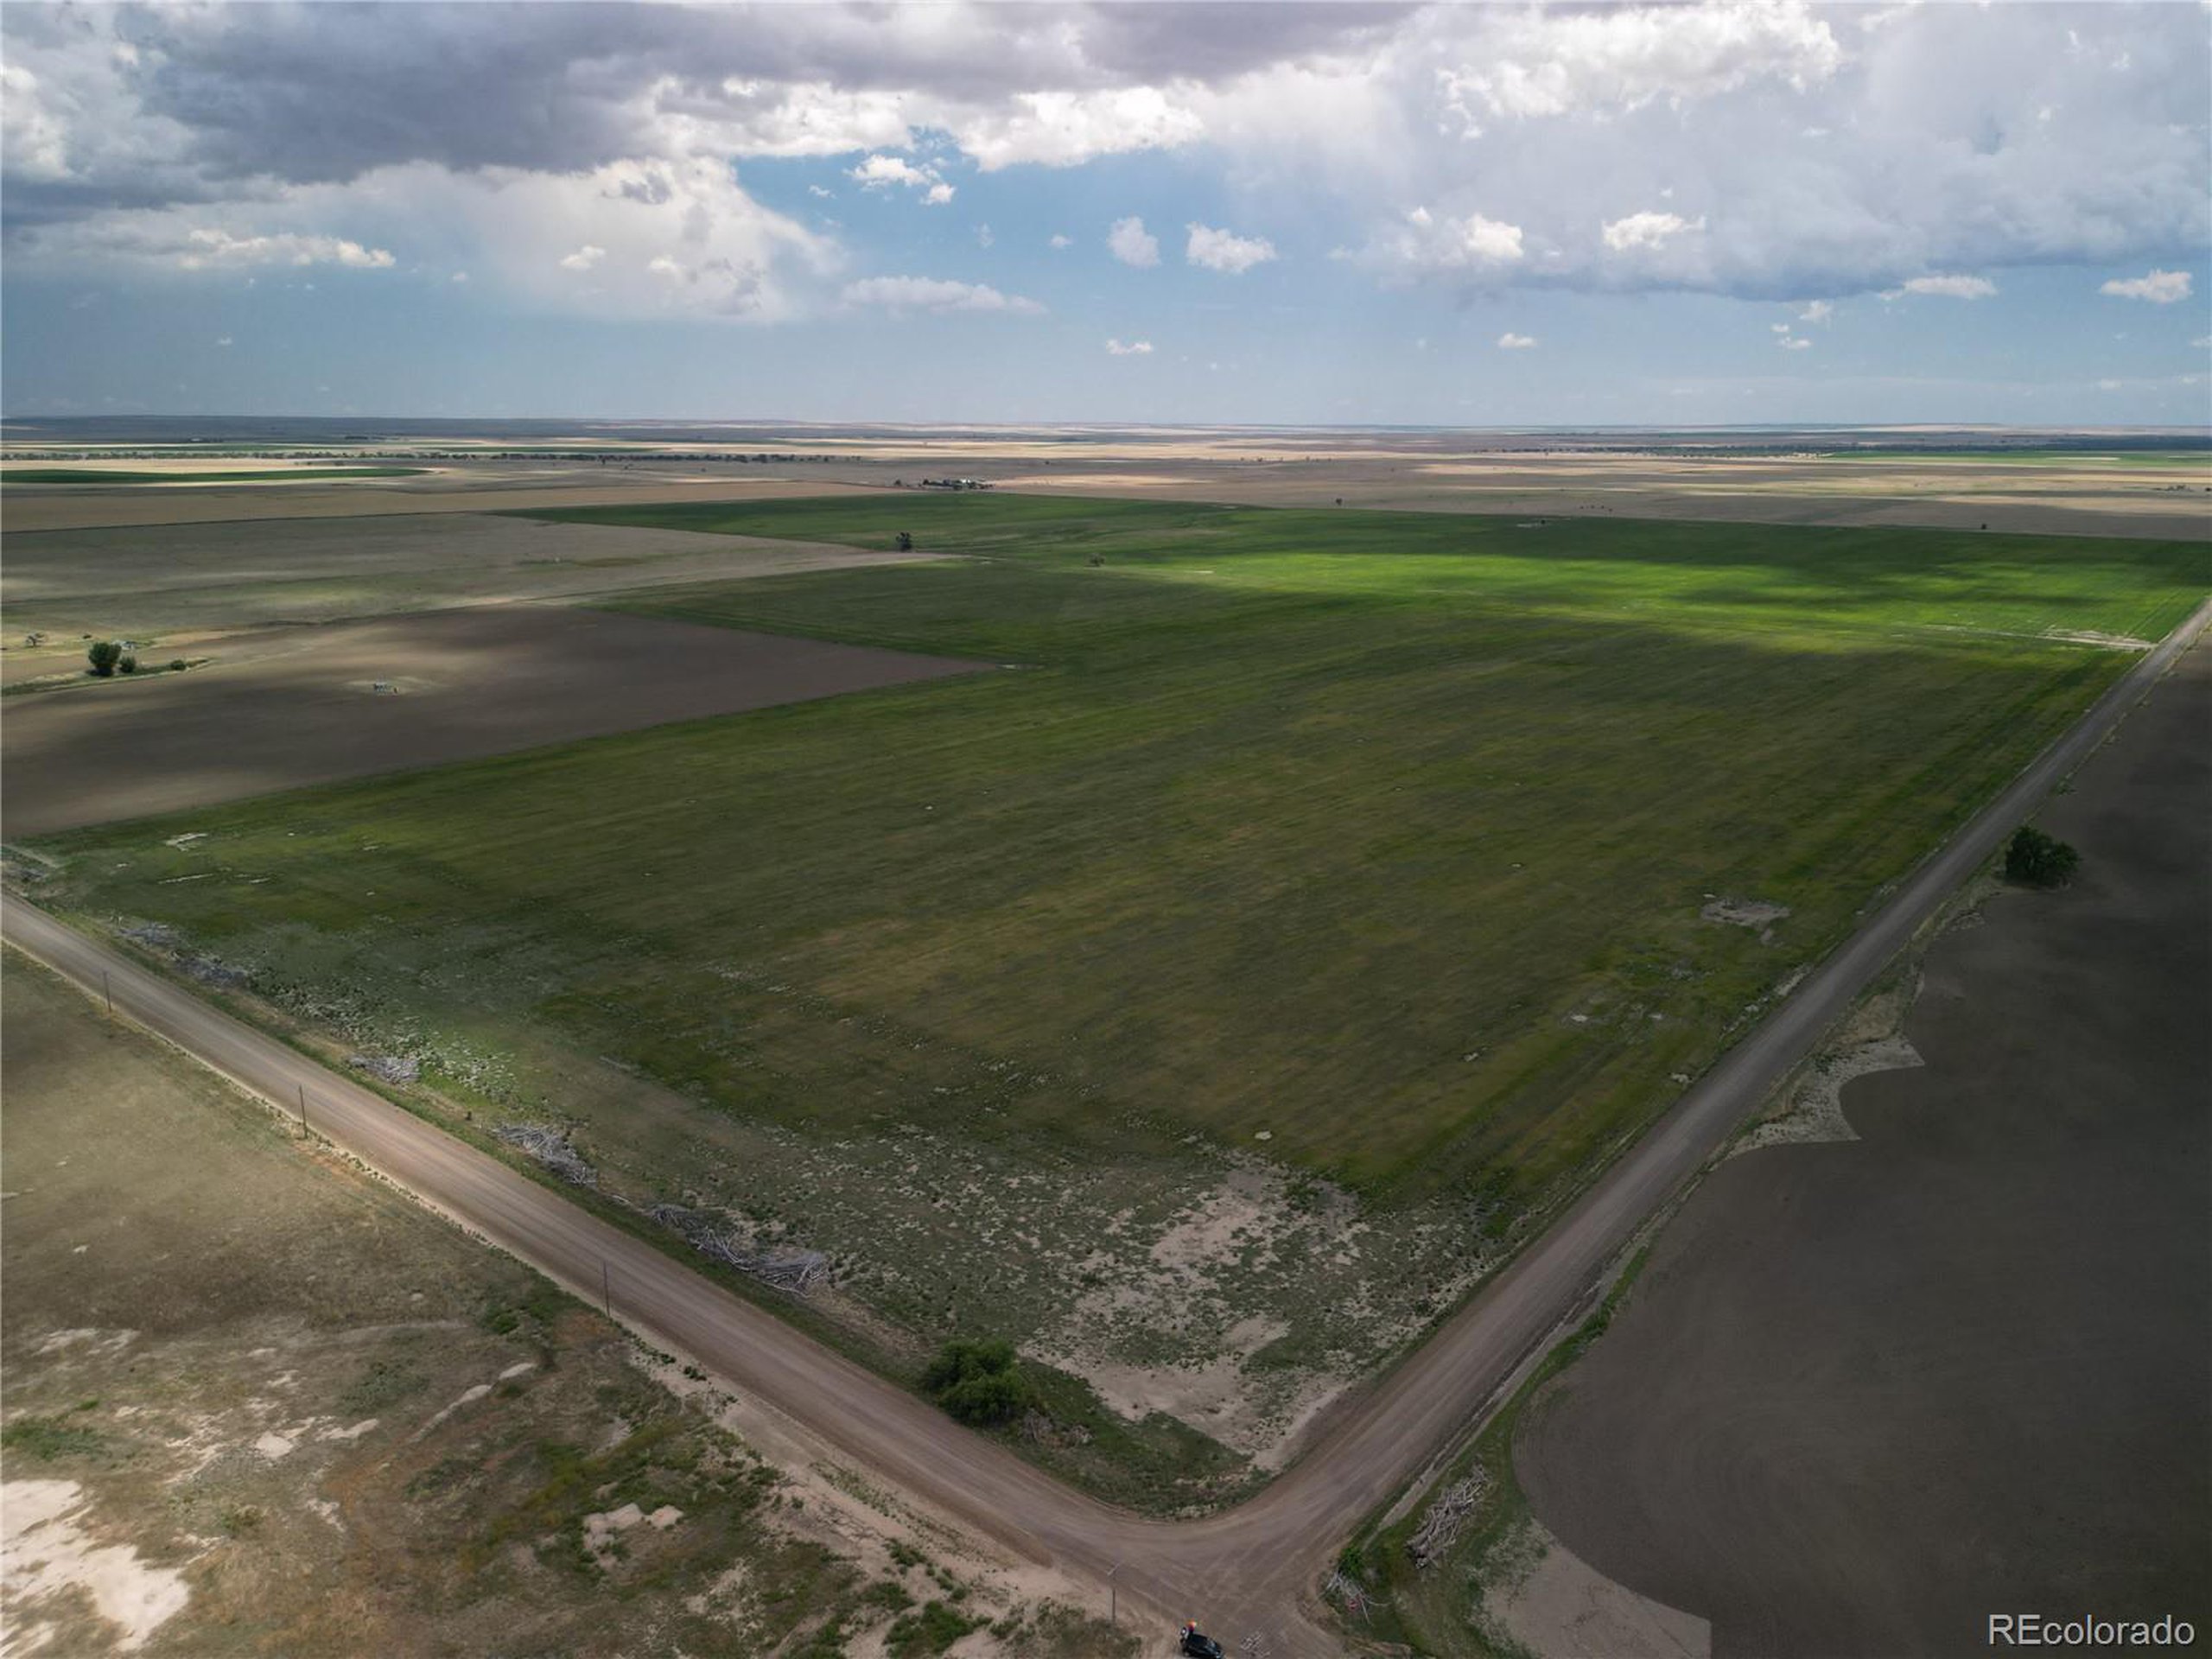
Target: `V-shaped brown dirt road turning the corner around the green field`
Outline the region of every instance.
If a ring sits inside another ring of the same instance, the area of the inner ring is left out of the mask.
[[[1422,1349],[1376,1383],[1334,1429],[1252,1502],[1199,1522],[1146,1522],[1060,1486],[1013,1453],[951,1425],[922,1400],[810,1343],[774,1316],[692,1274],[562,1194],[462,1146],[305,1055],[15,898],[0,931],[115,1011],[283,1106],[305,1099],[312,1126],[400,1186],[580,1296],[611,1287],[613,1310],[655,1345],[697,1358],[938,1504],[978,1533],[1062,1571],[1104,1582],[1119,1568],[1124,1606],[1157,1619],[1194,1615],[1230,1650],[1274,1659],[1340,1644],[1312,1610],[1312,1586],[1358,1520],[1473,1427],[1480,1407],[1575,1312],[1635,1230],[1721,1146],[1767,1086],[1801,1060],[1858,989],[1997,847],[2059,776],[2212,619],[2201,606],[2148,653],[1953,841],[1913,872],[1787,1002],[1732,1048],[1542,1239]],[[604,1279],[602,1279],[604,1274]]]

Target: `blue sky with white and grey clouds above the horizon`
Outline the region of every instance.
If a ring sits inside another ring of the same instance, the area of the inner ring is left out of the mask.
[[[11,0],[0,403],[2203,427],[2208,181],[2194,0]]]

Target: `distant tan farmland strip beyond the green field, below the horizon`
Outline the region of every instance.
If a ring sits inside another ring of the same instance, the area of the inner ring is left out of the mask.
[[[1546,447],[1537,447],[1544,442]],[[1814,440],[1807,438],[1807,445]],[[697,460],[659,458],[699,449]],[[425,478],[283,489],[18,489],[9,531],[770,500],[978,478],[1002,489],[1438,513],[1690,518],[1765,524],[1927,524],[2046,535],[2212,538],[2212,456],[2130,465],[2101,453],[1747,453],[1723,442],[1535,440],[1526,434],[971,431],[776,440],[805,460],[438,460]],[[29,453],[29,451],[27,451]],[[396,451],[403,458],[407,451]],[[376,449],[358,456],[378,460]]]

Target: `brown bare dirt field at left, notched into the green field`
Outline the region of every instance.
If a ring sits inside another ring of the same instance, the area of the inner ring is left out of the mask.
[[[978,668],[562,606],[296,628],[237,664],[9,699],[4,823],[38,836]]]

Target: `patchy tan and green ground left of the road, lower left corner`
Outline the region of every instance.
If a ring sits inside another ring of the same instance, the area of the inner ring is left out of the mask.
[[[1128,1652],[44,969],[0,995],[9,1652]]]

